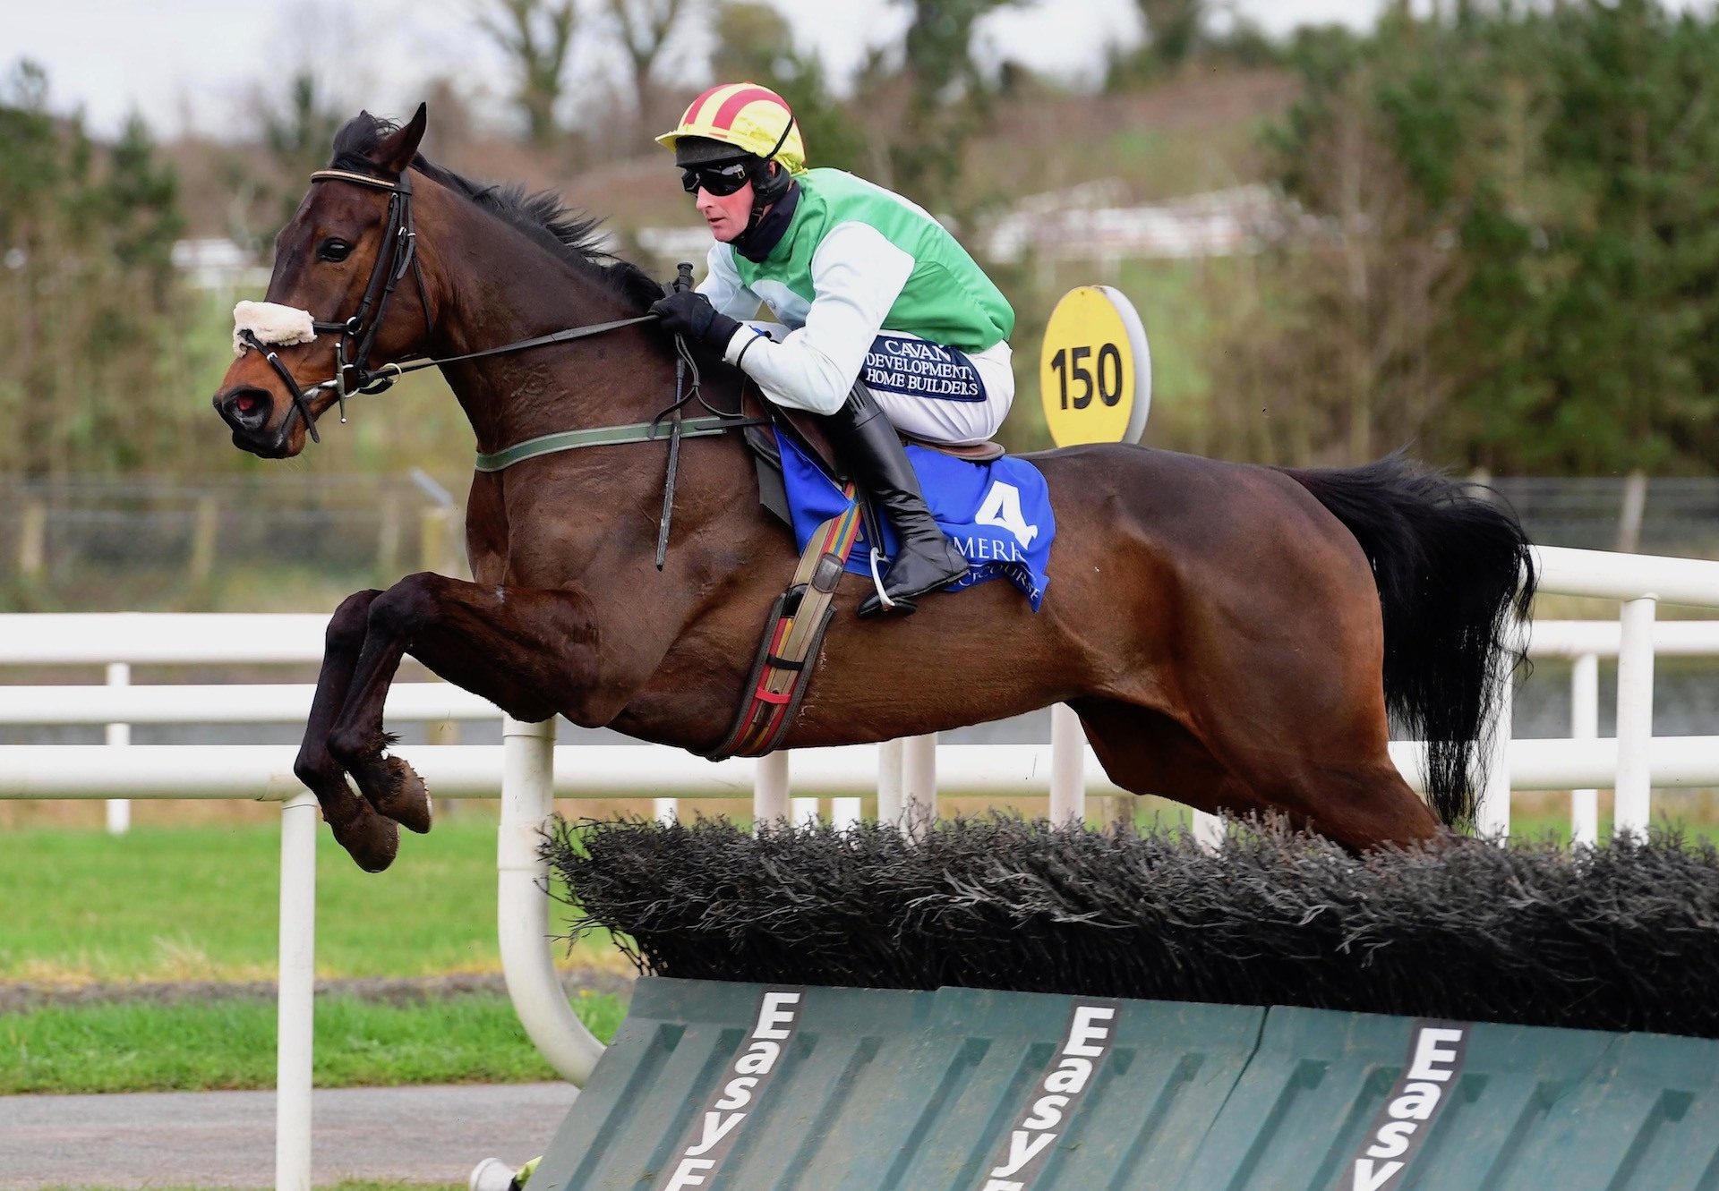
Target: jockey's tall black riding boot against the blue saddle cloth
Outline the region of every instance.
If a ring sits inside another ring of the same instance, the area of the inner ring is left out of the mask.
[[[915,610],[915,596],[963,577],[968,572],[966,555],[932,519],[908,452],[865,382],[854,383],[847,404],[823,421],[854,483],[896,531],[896,559],[884,574],[884,591],[896,605],[890,612],[906,615]],[[860,603],[863,617],[884,610],[875,591]]]

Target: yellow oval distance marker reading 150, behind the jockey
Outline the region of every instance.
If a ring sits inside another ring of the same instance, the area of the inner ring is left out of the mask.
[[[1081,285],[1050,311],[1038,400],[1059,447],[1140,442],[1152,407],[1152,349],[1121,290]]]

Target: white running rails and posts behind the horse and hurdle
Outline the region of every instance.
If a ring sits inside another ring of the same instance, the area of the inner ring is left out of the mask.
[[[1719,562],[1609,555],[1587,550],[1537,552],[1542,591],[1618,600],[1611,622],[1535,624],[1528,646],[1539,657],[1575,660],[1575,724],[1569,739],[1513,741],[1502,708],[1492,780],[1482,796],[1483,830],[1508,834],[1509,791],[1575,789],[1576,839],[1597,832],[1594,791],[1618,792],[1618,830],[1649,823],[1649,791],[1719,785],[1719,736],[1654,737],[1654,653],[1719,655],[1719,624],[1654,622],[1661,600],[1719,608]],[[0,799],[246,797],[284,803],[280,873],[280,1043],[275,1186],[309,1188],[311,992],[315,980],[316,804],[292,777],[294,746],[131,746],[136,724],[299,722],[309,684],[134,686],[132,665],[306,663],[323,650],[318,615],[0,615],[0,667],[103,665],[107,686],[0,686],[0,724],[105,724],[108,746],[0,746]],[[1597,739],[1600,657],[1619,658],[1618,739]],[[493,718],[497,710],[457,687],[402,682],[388,696],[394,720]],[[583,1083],[602,1047],[572,1016],[555,980],[548,902],[541,890],[538,832],[554,797],[736,797],[753,799],[760,820],[799,818],[811,789],[835,799],[839,820],[858,818],[858,799],[877,792],[882,818],[925,823],[949,794],[1050,794],[1055,820],[1085,816],[1086,794],[1117,796],[1080,736],[1073,713],[1057,708],[1049,744],[939,746],[935,737],[882,746],[801,749],[758,761],[717,765],[655,746],[555,746],[554,722],[504,720],[500,746],[428,744],[401,749],[437,797],[502,797],[497,840],[499,933],[507,988],[526,1031],[574,1083]],[[1420,787],[1422,748],[1391,746],[1392,760]],[[672,806],[658,804],[658,813]],[[110,827],[122,823],[110,818]],[[1217,820],[1196,832],[1214,839]]]

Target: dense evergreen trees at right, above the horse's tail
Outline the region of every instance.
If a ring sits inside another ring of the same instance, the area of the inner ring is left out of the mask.
[[[1710,14],[1404,2],[1286,62],[1301,98],[1269,137],[1296,225],[1217,351],[1251,454],[1719,467]]]

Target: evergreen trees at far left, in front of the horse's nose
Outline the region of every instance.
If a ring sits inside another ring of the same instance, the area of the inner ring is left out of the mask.
[[[110,150],[48,110],[41,67],[0,86],[0,471],[172,467],[186,318],[177,180],[132,119]],[[199,418],[201,419],[201,418]]]

